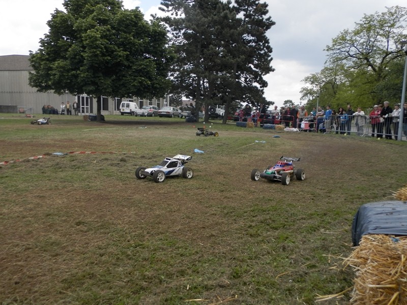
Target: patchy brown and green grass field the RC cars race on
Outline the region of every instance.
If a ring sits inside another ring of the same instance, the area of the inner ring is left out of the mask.
[[[394,140],[0,117],[0,162],[20,160],[0,166],[1,304],[313,304],[353,285],[340,257],[358,207],[407,184],[407,143]],[[95,154],[53,155],[77,151]],[[193,156],[192,179],[135,179],[177,154]],[[251,181],[282,155],[301,158],[304,181]]]

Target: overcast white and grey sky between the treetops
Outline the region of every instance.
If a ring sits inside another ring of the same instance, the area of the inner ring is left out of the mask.
[[[364,14],[385,12],[386,7],[407,6],[401,0],[267,0],[276,22],[268,32],[275,72],[266,76],[266,99],[281,106],[300,102],[301,80],[321,71],[324,48],[343,29],[354,28]],[[63,0],[0,0],[0,55],[28,55],[39,48],[48,32],[46,22]],[[124,0],[126,9],[139,7],[146,19],[159,13],[160,0]]]

